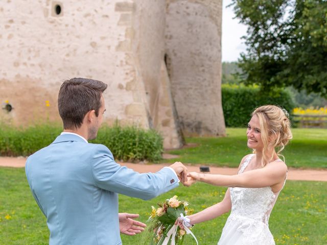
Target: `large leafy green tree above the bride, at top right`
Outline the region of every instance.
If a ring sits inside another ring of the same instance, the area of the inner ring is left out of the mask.
[[[245,84],[293,86],[327,97],[327,1],[233,0],[248,26],[240,67]]]

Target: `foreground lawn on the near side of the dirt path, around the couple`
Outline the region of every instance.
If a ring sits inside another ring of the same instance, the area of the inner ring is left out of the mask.
[[[30,192],[24,168],[0,167],[0,244],[49,244],[46,220]],[[327,244],[327,182],[287,181],[272,211],[269,225],[276,244]],[[177,194],[196,212],[222,200],[226,188],[197,183],[178,187],[160,197],[142,201],[120,195],[120,211],[139,213],[146,222],[151,205]],[[198,224],[193,232],[200,244],[217,244],[227,214]],[[138,237],[122,235],[124,245]],[[184,244],[195,244],[187,236]]]

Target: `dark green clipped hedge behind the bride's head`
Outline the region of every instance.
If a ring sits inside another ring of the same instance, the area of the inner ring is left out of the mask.
[[[285,108],[290,114],[294,108],[290,93],[284,89],[268,93],[258,86],[222,85],[222,105],[226,127],[246,126],[251,118],[251,112],[256,107],[268,104]]]

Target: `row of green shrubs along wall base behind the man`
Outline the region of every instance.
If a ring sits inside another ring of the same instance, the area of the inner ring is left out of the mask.
[[[51,144],[62,131],[58,124],[40,124],[27,128],[1,124],[0,155],[29,156]],[[157,162],[163,152],[162,137],[154,130],[135,126],[103,126],[92,143],[106,145],[115,159],[123,161],[149,160]]]

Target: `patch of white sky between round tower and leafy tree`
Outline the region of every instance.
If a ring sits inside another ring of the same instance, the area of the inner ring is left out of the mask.
[[[233,8],[226,8],[231,0],[223,0],[222,18],[222,61],[237,61],[240,53],[245,52],[246,46],[242,36],[246,35],[246,26],[233,19]]]

